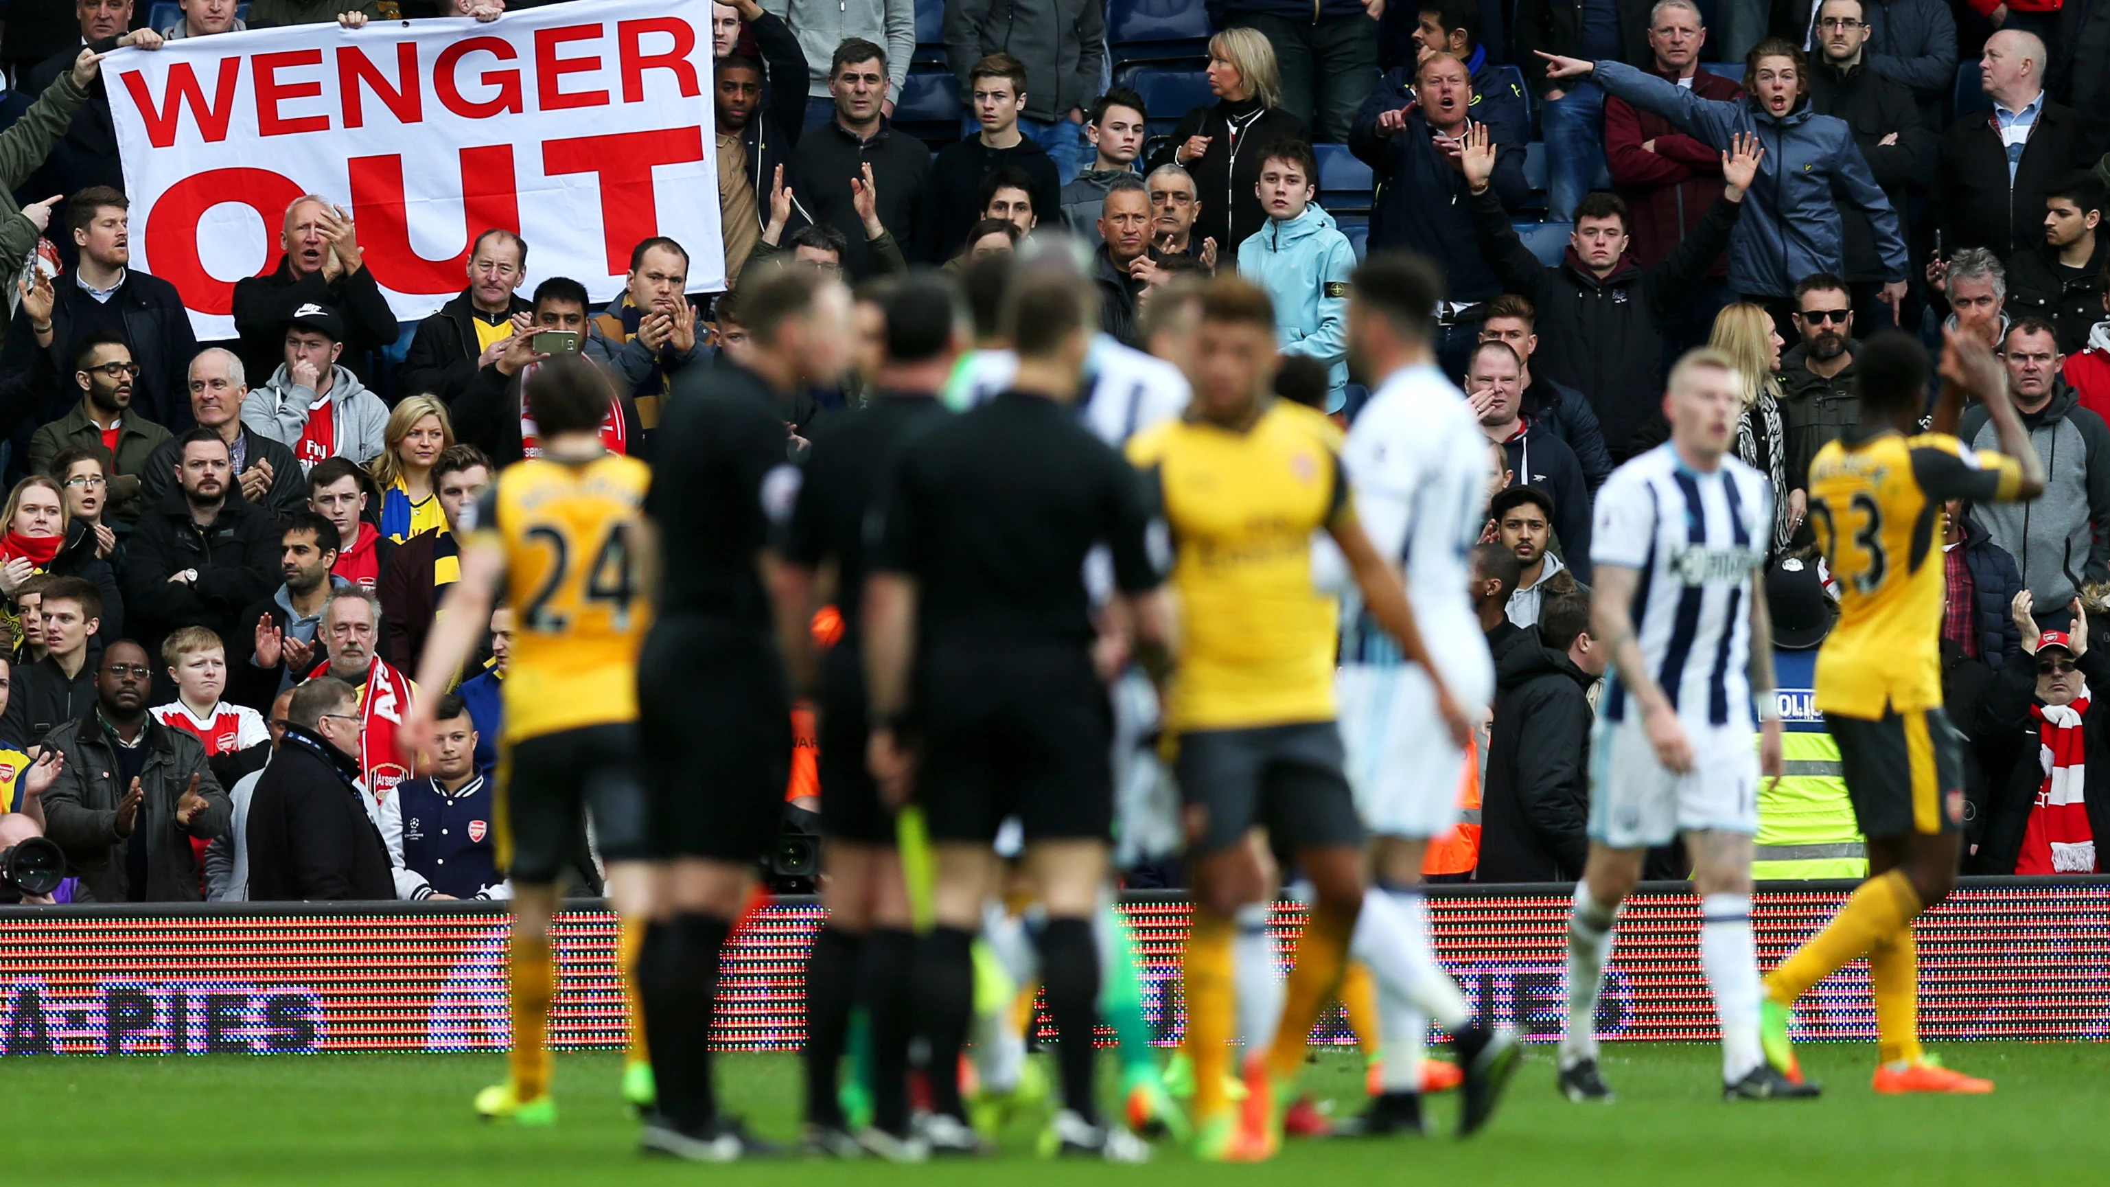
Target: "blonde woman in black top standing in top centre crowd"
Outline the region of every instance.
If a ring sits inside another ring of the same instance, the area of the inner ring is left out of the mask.
[[[1217,260],[1236,260],[1239,245],[1268,224],[1258,194],[1260,158],[1279,139],[1304,139],[1304,120],[1283,110],[1283,72],[1258,30],[1209,38],[1209,91],[1217,103],[1182,116],[1171,146],[1150,167],[1179,165],[1194,177],[1201,213],[1188,239],[1192,251],[1213,239]]]

